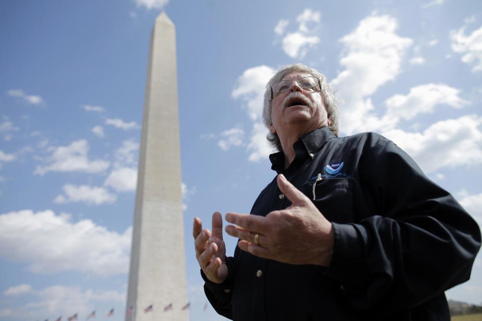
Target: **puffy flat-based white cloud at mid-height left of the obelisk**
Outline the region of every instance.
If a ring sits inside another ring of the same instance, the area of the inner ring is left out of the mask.
[[[86,172],[99,173],[105,171],[110,163],[97,159],[89,161],[87,152],[89,144],[87,140],[73,141],[68,146],[50,147],[52,152],[48,157],[50,165],[37,166],[34,174],[44,175],[48,172]]]

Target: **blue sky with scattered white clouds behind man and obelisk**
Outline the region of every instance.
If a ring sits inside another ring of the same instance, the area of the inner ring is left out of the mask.
[[[191,320],[224,319],[204,310],[193,218],[210,227],[214,211],[249,213],[276,175],[262,96],[287,64],[328,77],[344,101],[341,136],[392,139],[482,226],[482,2],[3,0],[0,321],[104,319],[111,308],[108,319],[124,319],[162,11],[176,26]],[[232,255],[236,240],[225,240]],[[480,255],[446,294],[482,304]]]

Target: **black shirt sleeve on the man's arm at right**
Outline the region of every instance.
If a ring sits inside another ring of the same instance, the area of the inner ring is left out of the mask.
[[[358,169],[378,213],[333,223],[326,270],[353,307],[380,313],[412,308],[465,282],[480,247],[480,229],[457,201],[397,145],[382,142],[364,152]]]

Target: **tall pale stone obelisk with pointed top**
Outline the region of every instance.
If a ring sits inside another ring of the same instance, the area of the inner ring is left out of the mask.
[[[175,33],[161,13],[147,69],[127,321],[188,319]]]

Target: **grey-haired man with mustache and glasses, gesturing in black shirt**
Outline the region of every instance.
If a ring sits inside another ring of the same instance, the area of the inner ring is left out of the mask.
[[[207,298],[234,320],[449,320],[444,291],[470,277],[480,230],[397,145],[337,137],[337,100],[301,64],[268,83],[263,112],[278,176],[251,215],[194,219]]]

